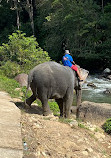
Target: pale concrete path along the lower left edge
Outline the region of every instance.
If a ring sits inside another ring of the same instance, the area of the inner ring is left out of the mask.
[[[0,158],[22,158],[21,112],[6,93],[0,93]]]

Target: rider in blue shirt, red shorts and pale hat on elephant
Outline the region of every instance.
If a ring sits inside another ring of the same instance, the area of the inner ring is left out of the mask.
[[[72,56],[69,53],[69,50],[65,50],[65,55],[62,58],[62,62],[64,66],[69,66],[71,69],[73,69],[74,71],[77,72],[78,76],[79,76],[79,82],[82,82],[82,77],[80,75],[79,69],[76,66]]]

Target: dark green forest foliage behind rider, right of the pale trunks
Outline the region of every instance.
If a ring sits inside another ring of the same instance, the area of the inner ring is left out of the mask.
[[[47,9],[46,3],[43,1],[37,8],[41,21],[39,41],[52,59],[61,60],[62,44],[65,43],[74,59],[80,59],[81,66],[93,65],[92,69],[111,67],[110,3],[105,4],[104,14],[93,0],[53,0]]]

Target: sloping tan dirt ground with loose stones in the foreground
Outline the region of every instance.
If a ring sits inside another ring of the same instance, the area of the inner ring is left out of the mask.
[[[42,109],[33,105],[21,109],[22,139],[27,143],[23,158],[111,158],[111,136],[101,127],[72,119],[60,120],[42,116]],[[66,122],[66,121],[65,121]]]

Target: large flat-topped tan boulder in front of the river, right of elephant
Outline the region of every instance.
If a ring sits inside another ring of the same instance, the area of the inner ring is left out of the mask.
[[[84,101],[78,108],[78,118],[94,124],[102,125],[111,118],[111,104]]]

